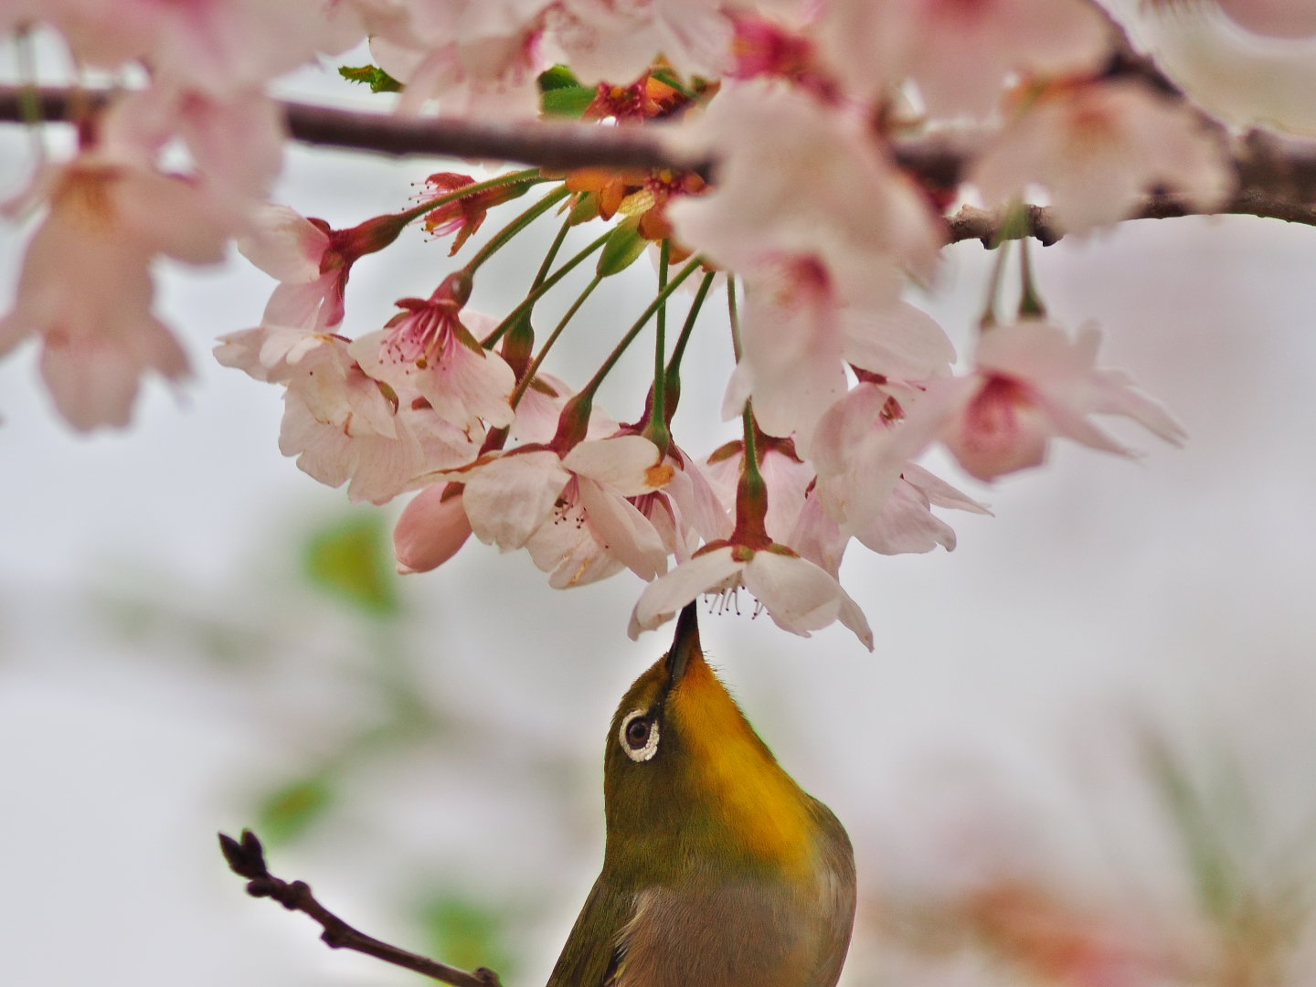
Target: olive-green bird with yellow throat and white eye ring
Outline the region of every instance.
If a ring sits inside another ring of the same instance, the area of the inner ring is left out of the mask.
[[[617,705],[603,791],[603,870],[547,987],[834,987],[850,838],[704,659],[694,603]]]

